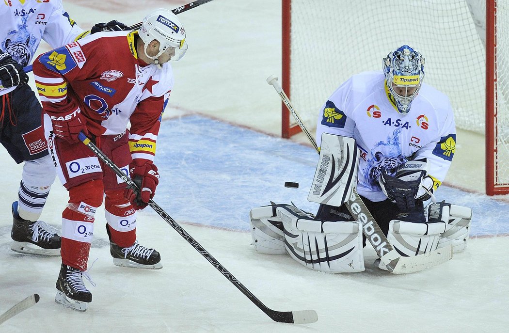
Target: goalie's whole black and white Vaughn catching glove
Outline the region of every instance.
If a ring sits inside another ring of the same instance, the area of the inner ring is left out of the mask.
[[[426,158],[401,164],[394,177],[383,171],[378,182],[387,198],[403,211],[413,209],[416,200],[426,201],[433,194],[433,179],[428,175]]]

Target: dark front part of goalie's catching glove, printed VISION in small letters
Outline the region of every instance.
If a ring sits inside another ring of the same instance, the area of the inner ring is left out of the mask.
[[[419,190],[420,181],[425,172],[418,179],[411,181],[404,181],[396,177],[390,176],[385,170],[379,178],[380,187],[385,193],[387,198],[396,202],[398,208],[402,212],[408,212],[415,208],[415,197]]]

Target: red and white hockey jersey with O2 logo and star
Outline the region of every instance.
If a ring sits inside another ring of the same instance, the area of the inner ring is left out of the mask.
[[[125,132],[132,158],[154,159],[172,67],[138,59],[137,32],[96,33],[41,54],[34,74],[43,110],[67,114],[79,106],[94,135]]]

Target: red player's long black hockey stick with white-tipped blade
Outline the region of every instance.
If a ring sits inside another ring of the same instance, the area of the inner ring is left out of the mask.
[[[79,140],[83,142],[83,144],[87,145],[94,152],[94,154],[99,157],[104,164],[106,164],[113,172],[117,174],[123,181],[125,181],[129,186],[133,186],[136,190],[139,191],[138,186],[119,169],[115,163],[113,163],[99,148],[97,148],[90,139],[83,134],[83,132],[78,134]],[[192,245],[196,249],[196,251],[200,252],[202,256],[205,257],[218,271],[223,274],[237,289],[239,289],[244,295],[247,296],[260,310],[262,310],[267,316],[269,316],[272,320],[278,321],[281,323],[295,323],[295,324],[307,324],[314,323],[318,320],[318,315],[315,310],[301,310],[301,311],[275,311],[269,309],[262,303],[256,296],[254,296],[239,280],[233,276],[223,265],[221,265],[210,253],[207,252],[205,248],[202,247],[194,238],[191,237],[182,227],[171,217],[169,216],[159,205],[157,205],[152,199],[149,201],[150,207],[154,209],[170,226],[173,227],[189,244]]]

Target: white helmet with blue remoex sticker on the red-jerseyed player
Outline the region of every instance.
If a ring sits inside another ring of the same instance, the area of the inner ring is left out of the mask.
[[[157,58],[166,52],[171,60],[179,61],[187,51],[186,32],[184,26],[172,11],[159,8],[143,19],[138,30],[139,37],[145,43],[145,56],[154,59],[156,65],[161,67]],[[147,47],[153,40],[160,43],[159,53],[154,57],[147,54]],[[175,54],[173,55],[173,50]]]

